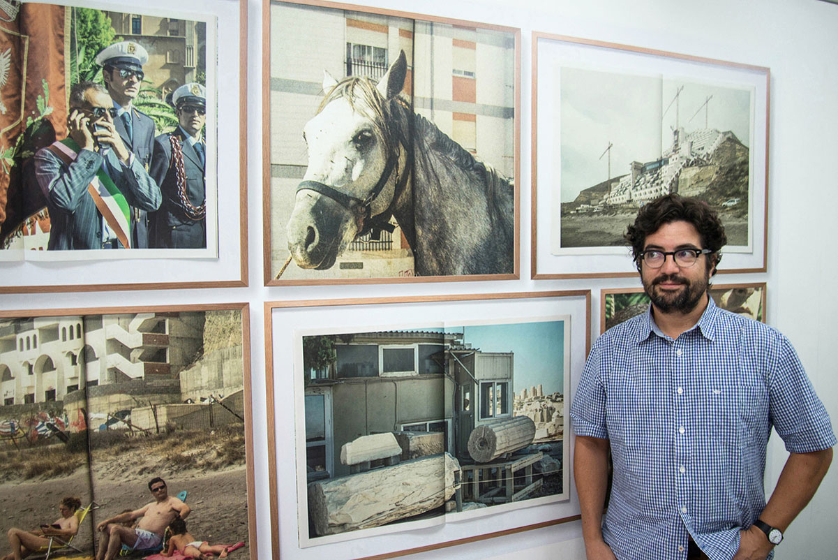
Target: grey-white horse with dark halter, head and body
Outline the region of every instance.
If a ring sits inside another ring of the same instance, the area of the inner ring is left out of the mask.
[[[404,52],[377,85],[335,81],[306,124],[308,169],[288,221],[297,266],[329,268],[351,241],[395,216],[416,276],[511,273],[515,193],[398,95]]]

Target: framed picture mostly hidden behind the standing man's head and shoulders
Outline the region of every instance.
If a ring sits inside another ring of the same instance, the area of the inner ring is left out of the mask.
[[[731,313],[765,323],[765,283],[713,284],[710,297],[716,305]],[[649,296],[643,288],[603,290],[599,305],[599,332],[646,313]]]

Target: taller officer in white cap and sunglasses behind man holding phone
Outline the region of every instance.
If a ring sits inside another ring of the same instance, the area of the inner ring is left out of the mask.
[[[154,121],[145,113],[137,111],[132,101],[140,92],[145,77],[142,65],[147,61],[146,49],[133,41],[111,44],[96,54],[96,64],[102,66],[102,78],[117,111],[114,119],[116,132],[145,169],[151,163],[154,149]],[[144,249],[149,246],[147,213],[133,206],[131,235],[133,247]]]

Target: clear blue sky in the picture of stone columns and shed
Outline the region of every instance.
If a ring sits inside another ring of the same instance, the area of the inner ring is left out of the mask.
[[[463,332],[464,341],[484,352],[514,352],[513,391],[541,383],[544,394],[561,392],[564,386],[565,322],[479,324],[447,327]]]

